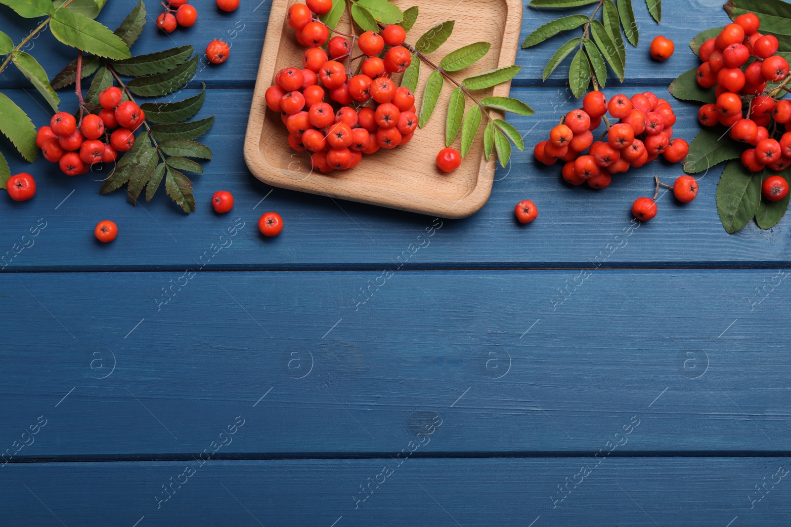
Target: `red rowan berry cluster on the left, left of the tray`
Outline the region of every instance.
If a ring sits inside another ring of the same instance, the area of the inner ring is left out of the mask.
[[[88,114],[77,122],[74,115],[59,111],[49,126],[38,130],[36,145],[44,159],[58,163],[64,174],[85,174],[93,164],[112,163],[118,152],[132,148],[133,132],[146,120],[140,107],[123,100],[115,86],[100,92],[99,104],[99,115]]]

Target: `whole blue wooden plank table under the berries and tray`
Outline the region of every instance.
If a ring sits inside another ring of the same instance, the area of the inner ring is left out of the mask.
[[[102,173],[31,166],[0,139],[39,187],[0,199],[0,525],[789,525],[787,218],[726,234],[717,168],[640,224],[631,201],[678,166],[594,191],[529,152],[466,220],[273,189],[242,158],[269,2],[195,3],[198,23],[165,36],[146,0],[133,48],[232,43],[188,86],[206,83],[199,117],[217,115],[195,213],[164,192],[100,197]],[[641,45],[607,94],[671,100],[720,5],[666,0],[657,26],[635,2]],[[528,9],[523,38],[551,16]],[[0,7],[0,25],[18,41],[35,21]],[[676,41],[663,63],[647,52],[660,33]],[[528,150],[578,105],[563,67],[540,81],[560,38],[517,55],[512,94],[538,111],[509,120]],[[74,58],[33,42],[50,76]],[[0,89],[49,119],[17,72]],[[673,104],[691,141],[697,108]],[[226,215],[210,209],[221,189]],[[256,227],[268,210],[275,239]],[[108,245],[104,219],[120,229]]]

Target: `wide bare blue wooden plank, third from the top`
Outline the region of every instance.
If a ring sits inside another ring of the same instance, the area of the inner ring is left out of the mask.
[[[194,254],[208,269],[225,258],[210,250],[221,234]],[[782,452],[788,281],[766,269],[2,275],[0,452],[44,416],[10,461],[188,458],[239,414],[249,423],[221,456],[384,455],[435,416],[421,453]]]

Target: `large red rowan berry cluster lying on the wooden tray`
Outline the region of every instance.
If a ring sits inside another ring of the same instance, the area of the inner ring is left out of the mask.
[[[351,42],[340,34],[330,39],[329,28],[315,16],[330,9],[331,0],[289,8],[288,23],[308,49],[302,68],[280,70],[266,92],[267,106],[289,131],[291,148],[312,152],[313,168],[324,174],[354,168],[364,153],[405,145],[418,127],[414,94],[390,78],[411,64],[412,55],[402,46],[407,33],[393,24],[381,34],[350,36]],[[362,54],[357,58],[367,57],[358,75],[352,75],[349,60],[355,40]],[[325,101],[327,95],[335,107]]]

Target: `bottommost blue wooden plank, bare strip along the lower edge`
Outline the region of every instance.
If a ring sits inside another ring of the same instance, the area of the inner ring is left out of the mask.
[[[18,527],[788,525],[789,469],[785,457],[36,463],[3,469],[0,518]]]

